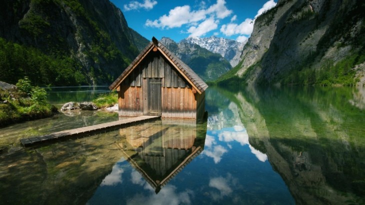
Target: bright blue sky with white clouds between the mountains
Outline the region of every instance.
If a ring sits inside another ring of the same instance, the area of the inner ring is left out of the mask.
[[[132,29],[148,40],[155,36],[179,42],[189,36],[247,39],[254,18],[277,0],[110,0]]]

